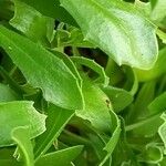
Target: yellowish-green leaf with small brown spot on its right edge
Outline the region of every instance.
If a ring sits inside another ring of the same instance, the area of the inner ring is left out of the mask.
[[[85,75],[82,89],[85,101],[85,108],[77,110],[76,115],[91,122],[92,126],[98,131],[111,133],[112,122],[108,107],[108,97],[97,85],[87,80]]]

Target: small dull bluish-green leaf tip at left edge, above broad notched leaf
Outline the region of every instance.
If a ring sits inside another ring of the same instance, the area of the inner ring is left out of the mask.
[[[8,85],[0,83],[0,102],[11,102],[19,98],[18,94]]]

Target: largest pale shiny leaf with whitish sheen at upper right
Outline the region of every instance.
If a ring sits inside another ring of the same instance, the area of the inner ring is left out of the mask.
[[[132,4],[118,0],[60,1],[76,20],[85,39],[120,65],[147,70],[156,62],[155,27]]]

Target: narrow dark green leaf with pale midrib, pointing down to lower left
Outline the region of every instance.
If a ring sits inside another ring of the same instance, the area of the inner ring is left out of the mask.
[[[46,131],[37,138],[34,146],[35,159],[50,148],[73,114],[74,111],[64,110],[52,104],[48,107]]]

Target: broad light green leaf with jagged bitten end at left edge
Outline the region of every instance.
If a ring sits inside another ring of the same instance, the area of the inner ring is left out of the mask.
[[[33,102],[15,101],[0,103],[0,147],[13,145],[11,132],[18,126],[28,126],[34,138],[45,131],[45,115],[33,107]]]

